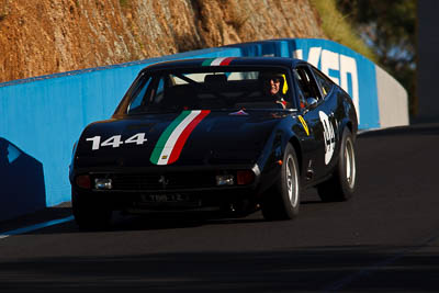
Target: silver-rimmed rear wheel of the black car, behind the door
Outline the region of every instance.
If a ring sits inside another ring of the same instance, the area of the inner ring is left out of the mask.
[[[324,202],[347,201],[353,195],[356,182],[356,148],[352,134],[346,127],[335,172],[328,181],[317,187],[317,192]]]

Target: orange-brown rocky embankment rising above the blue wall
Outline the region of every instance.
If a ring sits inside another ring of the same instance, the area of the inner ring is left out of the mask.
[[[279,37],[324,37],[308,0],[0,0],[0,82]]]

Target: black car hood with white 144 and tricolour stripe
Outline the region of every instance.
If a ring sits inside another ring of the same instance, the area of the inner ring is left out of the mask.
[[[184,124],[182,116],[188,113],[195,119],[187,116]],[[83,131],[75,166],[250,165],[259,158],[277,124],[288,115],[291,113],[282,111],[184,111],[101,121]],[[173,160],[160,161],[166,156],[164,146]]]

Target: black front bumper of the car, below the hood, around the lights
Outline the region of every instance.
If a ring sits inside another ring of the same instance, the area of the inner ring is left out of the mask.
[[[215,174],[252,170],[255,180],[245,185],[217,187]],[[81,189],[75,184],[77,174],[111,178],[112,190]],[[272,183],[257,165],[154,169],[75,170],[70,173],[72,196],[86,198],[114,211],[199,211],[229,210],[243,203],[259,202],[266,187]]]

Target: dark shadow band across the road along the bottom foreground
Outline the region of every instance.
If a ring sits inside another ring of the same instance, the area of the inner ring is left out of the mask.
[[[410,249],[413,251],[410,251]],[[0,290],[23,292],[437,291],[439,256],[356,246],[294,251],[58,257],[0,263]],[[390,258],[390,256],[392,256]],[[18,273],[20,272],[20,274]]]

